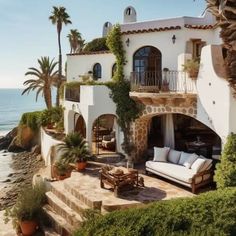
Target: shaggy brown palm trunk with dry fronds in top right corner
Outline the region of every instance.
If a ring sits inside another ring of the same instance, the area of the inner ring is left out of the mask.
[[[236,1],[206,0],[207,8],[215,15],[221,27],[220,36],[225,51],[227,77],[236,94]]]

